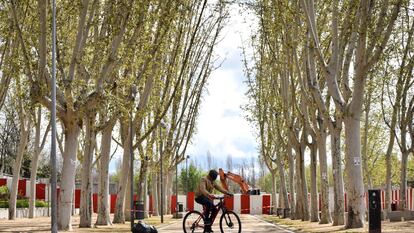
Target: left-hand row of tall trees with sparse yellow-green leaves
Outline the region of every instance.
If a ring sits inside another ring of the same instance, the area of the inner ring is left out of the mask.
[[[19,127],[9,219],[15,218],[23,155],[32,155],[30,178],[34,185],[39,155],[48,143],[49,2],[0,3],[0,109],[13,106]],[[139,161],[138,196],[145,199],[150,189],[157,203],[171,194],[172,174],[175,165],[185,159],[196,130],[203,90],[214,69],[214,47],[226,17],[222,1],[58,1],[56,102],[63,159],[60,230],[71,229],[77,168],[81,180],[80,227],[92,226],[93,169],[99,174],[96,224],[124,223],[130,218],[125,203],[130,203],[129,183],[133,182],[129,180],[131,153]],[[108,170],[112,139],[122,147],[123,156],[111,221]],[[166,171],[163,177],[157,172],[160,156]],[[166,190],[162,197],[161,179]],[[33,217],[35,186],[31,190]],[[155,208],[158,210],[157,204]]]

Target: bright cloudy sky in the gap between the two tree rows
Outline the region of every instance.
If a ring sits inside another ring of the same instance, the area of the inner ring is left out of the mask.
[[[215,50],[220,61],[224,61],[209,79],[197,132],[188,149],[190,157],[197,158],[199,163],[205,161],[207,151],[218,164],[228,155],[233,157],[234,163],[257,157],[256,136],[242,110],[248,102],[242,47],[248,49],[250,27],[254,22],[249,20],[251,17],[237,5],[230,7],[230,18]]]

